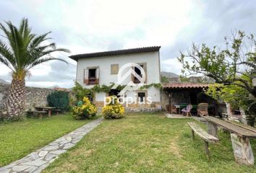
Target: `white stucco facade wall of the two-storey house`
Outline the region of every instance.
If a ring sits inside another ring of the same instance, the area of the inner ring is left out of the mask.
[[[119,68],[126,63],[147,63],[146,84],[160,83],[160,60],[158,52],[149,53],[131,53],[119,56],[104,56],[96,58],[80,58],[77,62],[77,82],[85,88],[93,87],[83,83],[84,69],[90,66],[99,66],[100,77],[99,84],[109,85],[111,82],[117,82],[117,74],[111,74],[111,64],[119,64]],[[131,79],[131,78],[129,78]],[[127,79],[128,80],[128,79]],[[127,96],[133,95],[135,92],[127,93]],[[153,102],[160,102],[160,91],[151,87],[148,89],[148,96],[152,97]],[[96,93],[95,100],[103,101],[105,94]]]

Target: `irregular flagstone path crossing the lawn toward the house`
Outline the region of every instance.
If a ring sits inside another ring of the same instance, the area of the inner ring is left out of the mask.
[[[63,136],[56,141],[49,143],[48,146],[40,148],[24,158],[12,162],[7,166],[1,167],[1,173],[11,172],[41,172],[43,169],[54,161],[60,154],[74,146],[83,136],[88,134],[93,128],[101,124],[103,117],[93,120],[81,128],[77,128],[71,133]]]

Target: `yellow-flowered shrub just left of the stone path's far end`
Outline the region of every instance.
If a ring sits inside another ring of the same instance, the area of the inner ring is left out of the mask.
[[[72,115],[74,119],[85,120],[94,117],[97,113],[97,107],[93,105],[88,97],[84,97],[82,104],[72,107]]]

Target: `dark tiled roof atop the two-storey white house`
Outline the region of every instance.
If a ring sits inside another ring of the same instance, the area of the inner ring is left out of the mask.
[[[111,51],[105,51],[105,52],[77,54],[74,56],[69,56],[69,58],[72,58],[74,61],[77,61],[79,58],[93,58],[93,57],[102,57],[102,56],[118,56],[118,55],[130,54],[130,53],[155,52],[155,51],[159,51],[160,48],[161,46],[152,46],[152,47],[145,47],[145,48],[111,50]]]

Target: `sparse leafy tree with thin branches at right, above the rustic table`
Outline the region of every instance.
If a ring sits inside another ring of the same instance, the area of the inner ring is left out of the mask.
[[[256,87],[252,79],[256,78],[256,40],[254,35],[245,35],[238,31],[231,37],[225,37],[226,48],[205,44],[192,44],[187,54],[181,53],[178,60],[182,63],[183,73],[187,75],[204,74],[217,83],[236,85],[256,97]],[[247,76],[243,79],[241,76]]]

